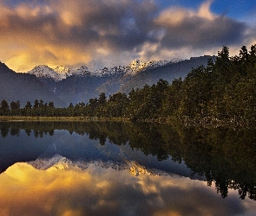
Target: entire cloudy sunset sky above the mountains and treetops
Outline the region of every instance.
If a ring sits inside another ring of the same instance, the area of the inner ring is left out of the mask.
[[[0,0],[0,61],[27,72],[235,55],[256,43],[255,11],[255,0]]]

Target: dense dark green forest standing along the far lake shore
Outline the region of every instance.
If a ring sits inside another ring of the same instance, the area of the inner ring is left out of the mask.
[[[21,108],[19,101],[10,105],[3,100],[2,116],[98,117],[128,118],[133,121],[171,122],[179,119],[185,124],[254,125],[256,121],[256,45],[240,54],[229,56],[223,47],[215,62],[207,67],[193,68],[187,77],[174,79],[172,84],[159,79],[128,93],[117,92],[108,98],[102,92],[89,103],[70,104],[56,108],[54,102],[30,101]]]

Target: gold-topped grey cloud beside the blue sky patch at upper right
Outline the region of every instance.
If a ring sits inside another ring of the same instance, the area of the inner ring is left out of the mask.
[[[190,53],[194,50],[205,53],[213,48],[242,44],[246,24],[214,15],[210,10],[212,2],[203,3],[197,11],[184,8],[162,11],[154,20],[156,27],[164,32],[159,41],[159,52],[165,48],[186,48]]]

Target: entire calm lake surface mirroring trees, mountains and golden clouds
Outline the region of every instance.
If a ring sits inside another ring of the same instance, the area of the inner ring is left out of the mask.
[[[0,215],[255,215],[256,131],[0,123]]]

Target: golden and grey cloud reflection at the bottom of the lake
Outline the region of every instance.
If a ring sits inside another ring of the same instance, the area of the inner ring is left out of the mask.
[[[204,181],[128,170],[38,170],[16,163],[0,175],[1,215],[235,215],[253,200],[225,200]],[[251,205],[251,206],[250,206]],[[250,209],[249,209],[250,210]]]

